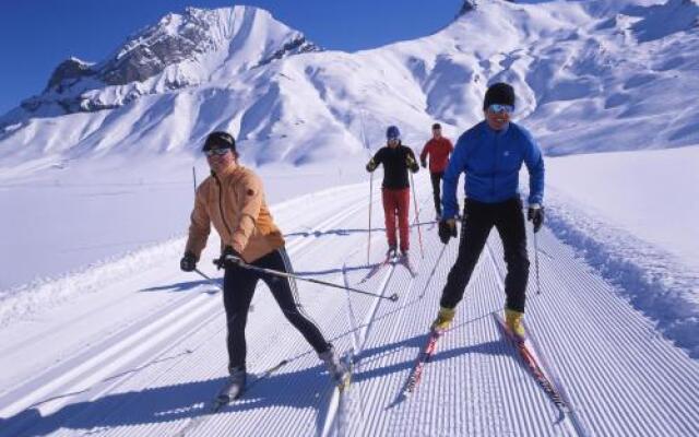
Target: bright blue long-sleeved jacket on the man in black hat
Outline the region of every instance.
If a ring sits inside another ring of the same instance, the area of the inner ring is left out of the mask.
[[[457,185],[465,172],[464,191],[470,199],[485,203],[501,202],[519,193],[522,163],[529,170],[529,203],[544,198],[544,158],[524,128],[510,122],[501,131],[482,121],[464,132],[457,142],[443,177],[443,217],[457,215]]]

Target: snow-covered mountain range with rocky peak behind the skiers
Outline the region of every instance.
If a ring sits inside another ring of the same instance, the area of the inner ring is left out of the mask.
[[[698,16],[697,0],[464,1],[434,35],[347,54],[256,8],[188,9],[105,61],[61,63],[0,118],[0,166],[191,152],[213,129],[257,164],[360,154],[363,128],[376,146],[389,123],[418,145],[435,120],[477,121],[500,80],[549,154],[692,144]]]

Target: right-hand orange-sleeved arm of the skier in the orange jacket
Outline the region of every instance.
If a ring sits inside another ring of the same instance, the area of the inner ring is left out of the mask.
[[[238,198],[240,214],[238,224],[233,231],[233,249],[238,253],[242,253],[248,245],[250,235],[254,232],[260,216],[260,209],[264,201],[262,181],[257,175],[248,174],[237,181],[234,196]]]

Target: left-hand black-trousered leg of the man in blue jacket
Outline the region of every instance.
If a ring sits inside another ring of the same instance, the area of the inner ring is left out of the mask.
[[[467,215],[461,227],[459,255],[449,271],[447,284],[441,293],[440,306],[454,308],[463,298],[471,274],[478,262],[485,241],[493,228],[490,206],[484,203],[466,201]]]

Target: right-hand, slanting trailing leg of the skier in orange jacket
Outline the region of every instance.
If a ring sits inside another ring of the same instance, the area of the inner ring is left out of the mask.
[[[254,265],[265,269],[274,269],[281,272],[294,273],[292,262],[288,259],[286,249],[281,248],[260,259]],[[303,310],[298,298],[296,281],[287,277],[272,276],[264,274],[262,281],[266,283],[286,319],[304,335],[306,341],[317,353],[325,352],[330,344],[323,338],[320,329]]]

